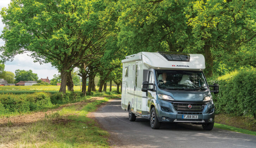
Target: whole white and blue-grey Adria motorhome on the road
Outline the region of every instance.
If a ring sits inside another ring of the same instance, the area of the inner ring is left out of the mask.
[[[122,60],[122,109],[129,120],[150,119],[152,129],[161,122],[202,124],[212,130],[214,104],[203,70],[201,54],[140,52]]]

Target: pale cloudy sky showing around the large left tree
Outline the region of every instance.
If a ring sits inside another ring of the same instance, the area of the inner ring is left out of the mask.
[[[11,0],[0,0],[0,9],[2,10],[3,7],[8,7],[8,4]],[[2,30],[4,29],[4,24],[2,23],[2,18],[0,19],[0,35],[2,34]],[[3,46],[5,42],[0,39],[0,47]],[[28,56],[27,54],[16,55],[12,62],[5,63],[5,71],[15,72],[15,70],[32,70],[33,73],[36,73],[38,78],[46,78],[47,76],[49,79],[53,78],[54,74],[58,74],[58,70],[54,67],[51,67],[50,63],[40,65],[38,62],[34,63],[33,59]]]

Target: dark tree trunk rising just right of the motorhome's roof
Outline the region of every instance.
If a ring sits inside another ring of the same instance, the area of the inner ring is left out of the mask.
[[[208,43],[205,44],[205,61],[206,61],[206,75],[211,77],[213,76],[213,57],[210,50],[210,45]]]

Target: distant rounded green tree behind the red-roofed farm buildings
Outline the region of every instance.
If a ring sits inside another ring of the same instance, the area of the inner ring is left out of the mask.
[[[32,70],[15,70],[15,80],[16,83],[19,81],[37,81],[37,74],[33,73]]]

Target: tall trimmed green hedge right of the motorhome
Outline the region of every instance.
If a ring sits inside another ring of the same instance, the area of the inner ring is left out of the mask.
[[[209,85],[219,84],[219,93],[213,94],[216,113],[256,118],[256,68],[242,69],[223,75]]]

